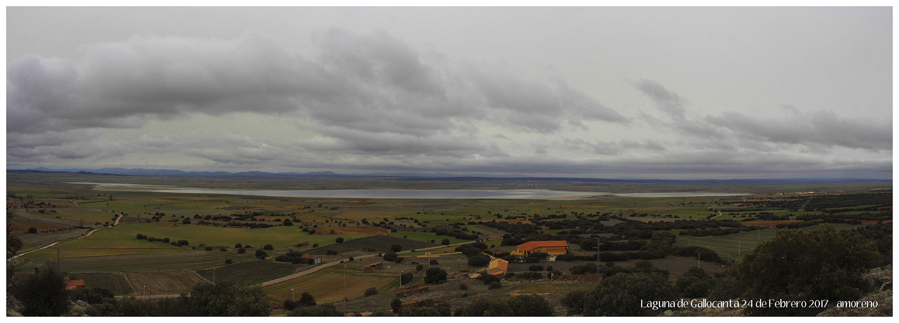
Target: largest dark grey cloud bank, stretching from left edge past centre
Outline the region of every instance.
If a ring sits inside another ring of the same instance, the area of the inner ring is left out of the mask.
[[[314,61],[259,37],[131,38],[87,47],[75,60],[21,57],[7,74],[8,128],[139,127],[146,118],[235,111],[414,135],[472,118],[541,132],[565,119],[626,121],[565,83],[426,62],[432,57],[383,31],[326,31],[316,44]]]

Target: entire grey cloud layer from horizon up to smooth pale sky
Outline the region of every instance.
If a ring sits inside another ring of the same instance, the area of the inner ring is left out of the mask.
[[[77,57],[15,58],[8,166],[892,177],[889,118],[707,112],[648,78],[629,85],[634,104],[612,106],[602,88],[386,31],[311,38],[306,56],[245,36],[132,37]]]

